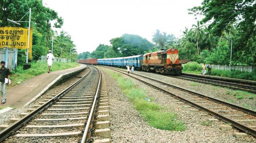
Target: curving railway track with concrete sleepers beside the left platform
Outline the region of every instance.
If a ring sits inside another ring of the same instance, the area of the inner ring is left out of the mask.
[[[106,81],[100,70],[89,68],[59,94],[11,119],[13,124],[1,125],[0,142],[110,142]]]

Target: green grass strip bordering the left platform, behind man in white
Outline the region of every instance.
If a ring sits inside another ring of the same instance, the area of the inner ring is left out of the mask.
[[[54,62],[51,67],[51,72],[73,68],[78,66],[77,63],[59,63]],[[46,62],[31,63],[31,68],[23,70],[23,66],[17,66],[16,71],[12,71],[10,79],[12,81],[11,87],[21,84],[23,81],[33,78],[42,73],[48,71],[48,65]]]

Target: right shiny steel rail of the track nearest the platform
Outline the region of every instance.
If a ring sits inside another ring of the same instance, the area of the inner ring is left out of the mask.
[[[100,70],[98,68],[96,68],[96,69],[98,70],[98,72],[100,74]],[[83,136],[82,136],[82,139],[81,139],[81,143],[86,143],[87,139],[89,139],[90,136],[91,136],[91,131],[89,130],[89,128],[90,128],[90,126],[92,126],[92,118],[94,118],[94,116],[92,116],[92,115],[95,113],[94,108],[95,108],[97,96],[99,94],[100,84],[101,84],[101,74],[100,74],[98,88],[97,88],[96,94],[94,95],[94,100],[93,100],[93,103],[92,103],[92,109],[90,111],[90,114],[89,114],[89,117],[88,117],[85,129],[84,129],[84,133],[83,133]]]

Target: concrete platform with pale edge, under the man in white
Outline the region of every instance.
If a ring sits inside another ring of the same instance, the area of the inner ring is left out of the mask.
[[[51,87],[49,84],[54,86],[54,81],[57,82],[57,80],[60,80],[63,75],[68,76],[68,74],[75,71],[81,71],[82,69],[85,69],[85,67],[86,65],[81,64],[75,68],[54,71],[51,73],[46,72],[44,74],[35,76],[32,79],[26,80],[18,86],[7,89],[6,103],[0,104],[0,108],[4,106],[22,108],[27,102],[35,98],[35,96],[44,94],[44,92]],[[0,100],[2,100],[1,96]]]

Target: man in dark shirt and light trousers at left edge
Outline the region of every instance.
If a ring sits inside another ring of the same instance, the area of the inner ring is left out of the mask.
[[[0,69],[0,93],[2,94],[1,104],[4,104],[6,102],[6,89],[9,85],[10,74],[10,70],[5,67],[5,62],[2,61]]]

